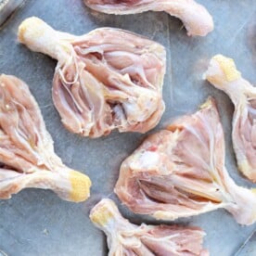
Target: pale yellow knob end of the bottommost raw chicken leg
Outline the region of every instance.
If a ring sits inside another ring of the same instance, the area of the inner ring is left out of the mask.
[[[119,211],[112,200],[102,199],[90,212],[90,219],[98,226],[105,226],[117,212]]]

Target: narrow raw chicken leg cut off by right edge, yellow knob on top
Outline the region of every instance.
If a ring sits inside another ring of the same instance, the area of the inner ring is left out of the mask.
[[[256,88],[241,77],[232,58],[211,58],[206,79],[233,101],[233,147],[241,173],[256,183]]]

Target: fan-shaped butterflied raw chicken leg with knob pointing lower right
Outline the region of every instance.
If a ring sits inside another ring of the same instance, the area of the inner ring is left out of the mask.
[[[256,194],[224,167],[224,133],[214,101],[147,137],[122,162],[115,192],[132,211],[174,220],[224,208],[256,221]]]

